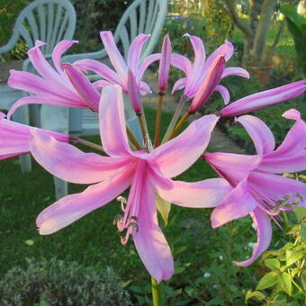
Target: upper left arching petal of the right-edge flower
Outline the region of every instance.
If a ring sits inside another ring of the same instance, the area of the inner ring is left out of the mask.
[[[266,155],[275,148],[275,138],[266,124],[255,116],[245,115],[237,119],[247,130],[259,155]]]

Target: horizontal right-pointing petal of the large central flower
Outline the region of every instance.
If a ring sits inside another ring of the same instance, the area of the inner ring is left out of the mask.
[[[232,189],[222,178],[187,183],[153,174],[151,180],[156,192],[164,200],[190,208],[215,207]]]

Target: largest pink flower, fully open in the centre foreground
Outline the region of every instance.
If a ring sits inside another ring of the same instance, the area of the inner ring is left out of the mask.
[[[130,186],[122,216],[115,223],[125,232],[122,243],[132,236],[148,273],[158,282],[174,272],[173,258],[157,223],[154,193],[168,202],[185,207],[214,207],[231,187],[223,179],[195,183],[173,181],[201,156],[208,145],[215,115],[193,121],[175,139],[151,152],[131,151],[126,135],[119,85],[103,89],[99,106],[103,149],[110,157],[83,153],[79,149],[33,131],[31,153],[51,174],[71,183],[92,184],[83,193],[68,195],[42,211],[37,219],[40,234],[51,234],[112,201]],[[113,122],[116,122],[114,125]]]

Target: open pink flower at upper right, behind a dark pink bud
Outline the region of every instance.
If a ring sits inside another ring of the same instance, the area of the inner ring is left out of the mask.
[[[216,58],[220,56],[224,57],[227,62],[231,58],[234,48],[233,45],[226,40],[218,49],[216,49],[207,60],[205,60],[205,49],[202,43],[202,40],[196,36],[191,36],[189,34],[184,34],[184,36],[189,37],[191,43],[193,44],[194,50],[194,61],[193,64],[189,61],[188,58],[185,58],[179,54],[173,54],[171,56],[171,64],[184,72],[186,75],[183,78],[180,78],[176,81],[173,92],[176,90],[184,88],[184,95],[189,99],[192,99],[193,96],[200,89],[205,77],[210,70],[212,63]],[[241,67],[229,67],[225,68],[221,78],[226,76],[243,76],[249,77],[247,70]],[[229,91],[222,85],[216,85],[215,91],[218,91],[224,103],[229,103]]]

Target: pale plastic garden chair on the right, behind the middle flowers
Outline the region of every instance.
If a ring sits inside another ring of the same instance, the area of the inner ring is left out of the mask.
[[[114,40],[121,46],[123,57],[127,58],[130,42],[139,33],[151,34],[150,39],[144,45],[140,61],[147,57],[155,49],[160,32],[166,20],[166,0],[135,0],[121,17],[114,33]],[[107,56],[105,49],[96,52],[73,54],[62,58],[62,62],[74,62],[82,58],[102,59]],[[95,76],[90,77],[92,80]],[[126,105],[126,118],[130,130],[137,139],[141,138],[139,122],[130,107],[128,97],[124,97]],[[48,106],[43,106],[42,117],[48,115]],[[96,135],[99,133],[98,116],[95,112],[86,109],[68,110],[69,131],[77,135]],[[67,114],[65,115],[67,116]],[[115,124],[115,123],[114,123]]]

